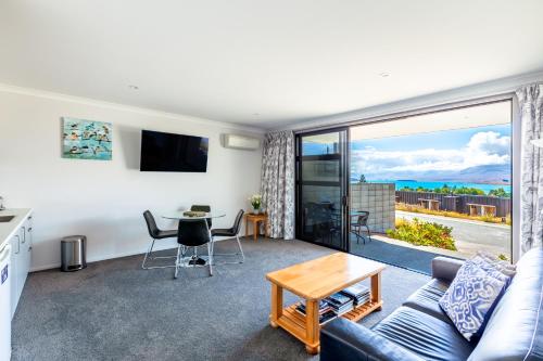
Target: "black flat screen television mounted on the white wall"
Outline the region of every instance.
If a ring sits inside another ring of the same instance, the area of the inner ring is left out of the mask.
[[[141,131],[141,171],[207,171],[210,140],[203,137]]]

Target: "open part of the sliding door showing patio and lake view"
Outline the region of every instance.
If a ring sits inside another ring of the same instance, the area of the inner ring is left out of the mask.
[[[350,252],[422,273],[437,256],[513,260],[512,106],[351,127],[351,212],[368,218]]]

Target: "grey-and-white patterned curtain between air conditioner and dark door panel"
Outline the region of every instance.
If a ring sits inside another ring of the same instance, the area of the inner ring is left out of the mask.
[[[294,237],[294,133],[266,134],[262,159],[262,204],[273,238]]]

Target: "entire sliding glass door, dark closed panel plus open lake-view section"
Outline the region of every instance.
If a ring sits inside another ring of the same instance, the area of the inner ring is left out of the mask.
[[[422,273],[513,260],[512,121],[501,99],[298,134],[296,237]]]

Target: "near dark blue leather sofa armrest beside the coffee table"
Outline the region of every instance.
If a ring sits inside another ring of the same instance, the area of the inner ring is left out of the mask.
[[[338,318],[320,328],[320,361],[341,360],[422,361],[374,331]]]

